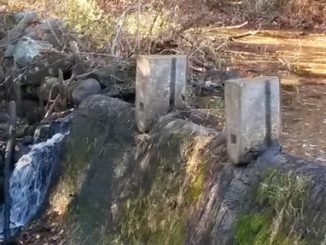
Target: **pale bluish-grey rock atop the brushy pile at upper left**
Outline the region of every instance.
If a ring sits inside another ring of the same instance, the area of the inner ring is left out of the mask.
[[[35,41],[30,37],[24,37],[16,44],[13,57],[18,66],[25,67],[31,65],[41,52],[49,51],[52,48],[53,46],[48,42]]]

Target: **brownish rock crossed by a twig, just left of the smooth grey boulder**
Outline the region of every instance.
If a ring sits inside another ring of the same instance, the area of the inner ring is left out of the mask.
[[[54,100],[60,93],[60,83],[57,77],[46,76],[40,86],[41,99],[46,102]],[[51,96],[50,96],[51,95]]]

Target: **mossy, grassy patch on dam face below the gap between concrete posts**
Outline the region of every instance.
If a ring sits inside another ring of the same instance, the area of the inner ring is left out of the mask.
[[[187,218],[204,189],[206,162],[188,130],[160,135],[157,142],[150,188],[124,202],[116,244],[185,244]]]

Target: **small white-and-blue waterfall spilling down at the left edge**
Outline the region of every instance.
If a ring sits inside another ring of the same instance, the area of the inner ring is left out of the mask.
[[[68,133],[66,129],[64,133],[55,133],[48,140],[34,144],[15,164],[10,176],[12,235],[27,225],[41,207],[59,162],[60,142]],[[0,207],[0,231],[0,239],[3,239],[3,205]]]

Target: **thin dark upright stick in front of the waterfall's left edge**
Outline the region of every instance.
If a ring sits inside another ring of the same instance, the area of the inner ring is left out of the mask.
[[[10,101],[9,103],[9,113],[10,113],[10,127],[9,127],[9,140],[7,143],[6,154],[5,154],[5,166],[4,166],[4,241],[8,242],[10,240],[10,166],[13,158],[13,150],[15,146],[16,138],[16,103],[15,101]]]

